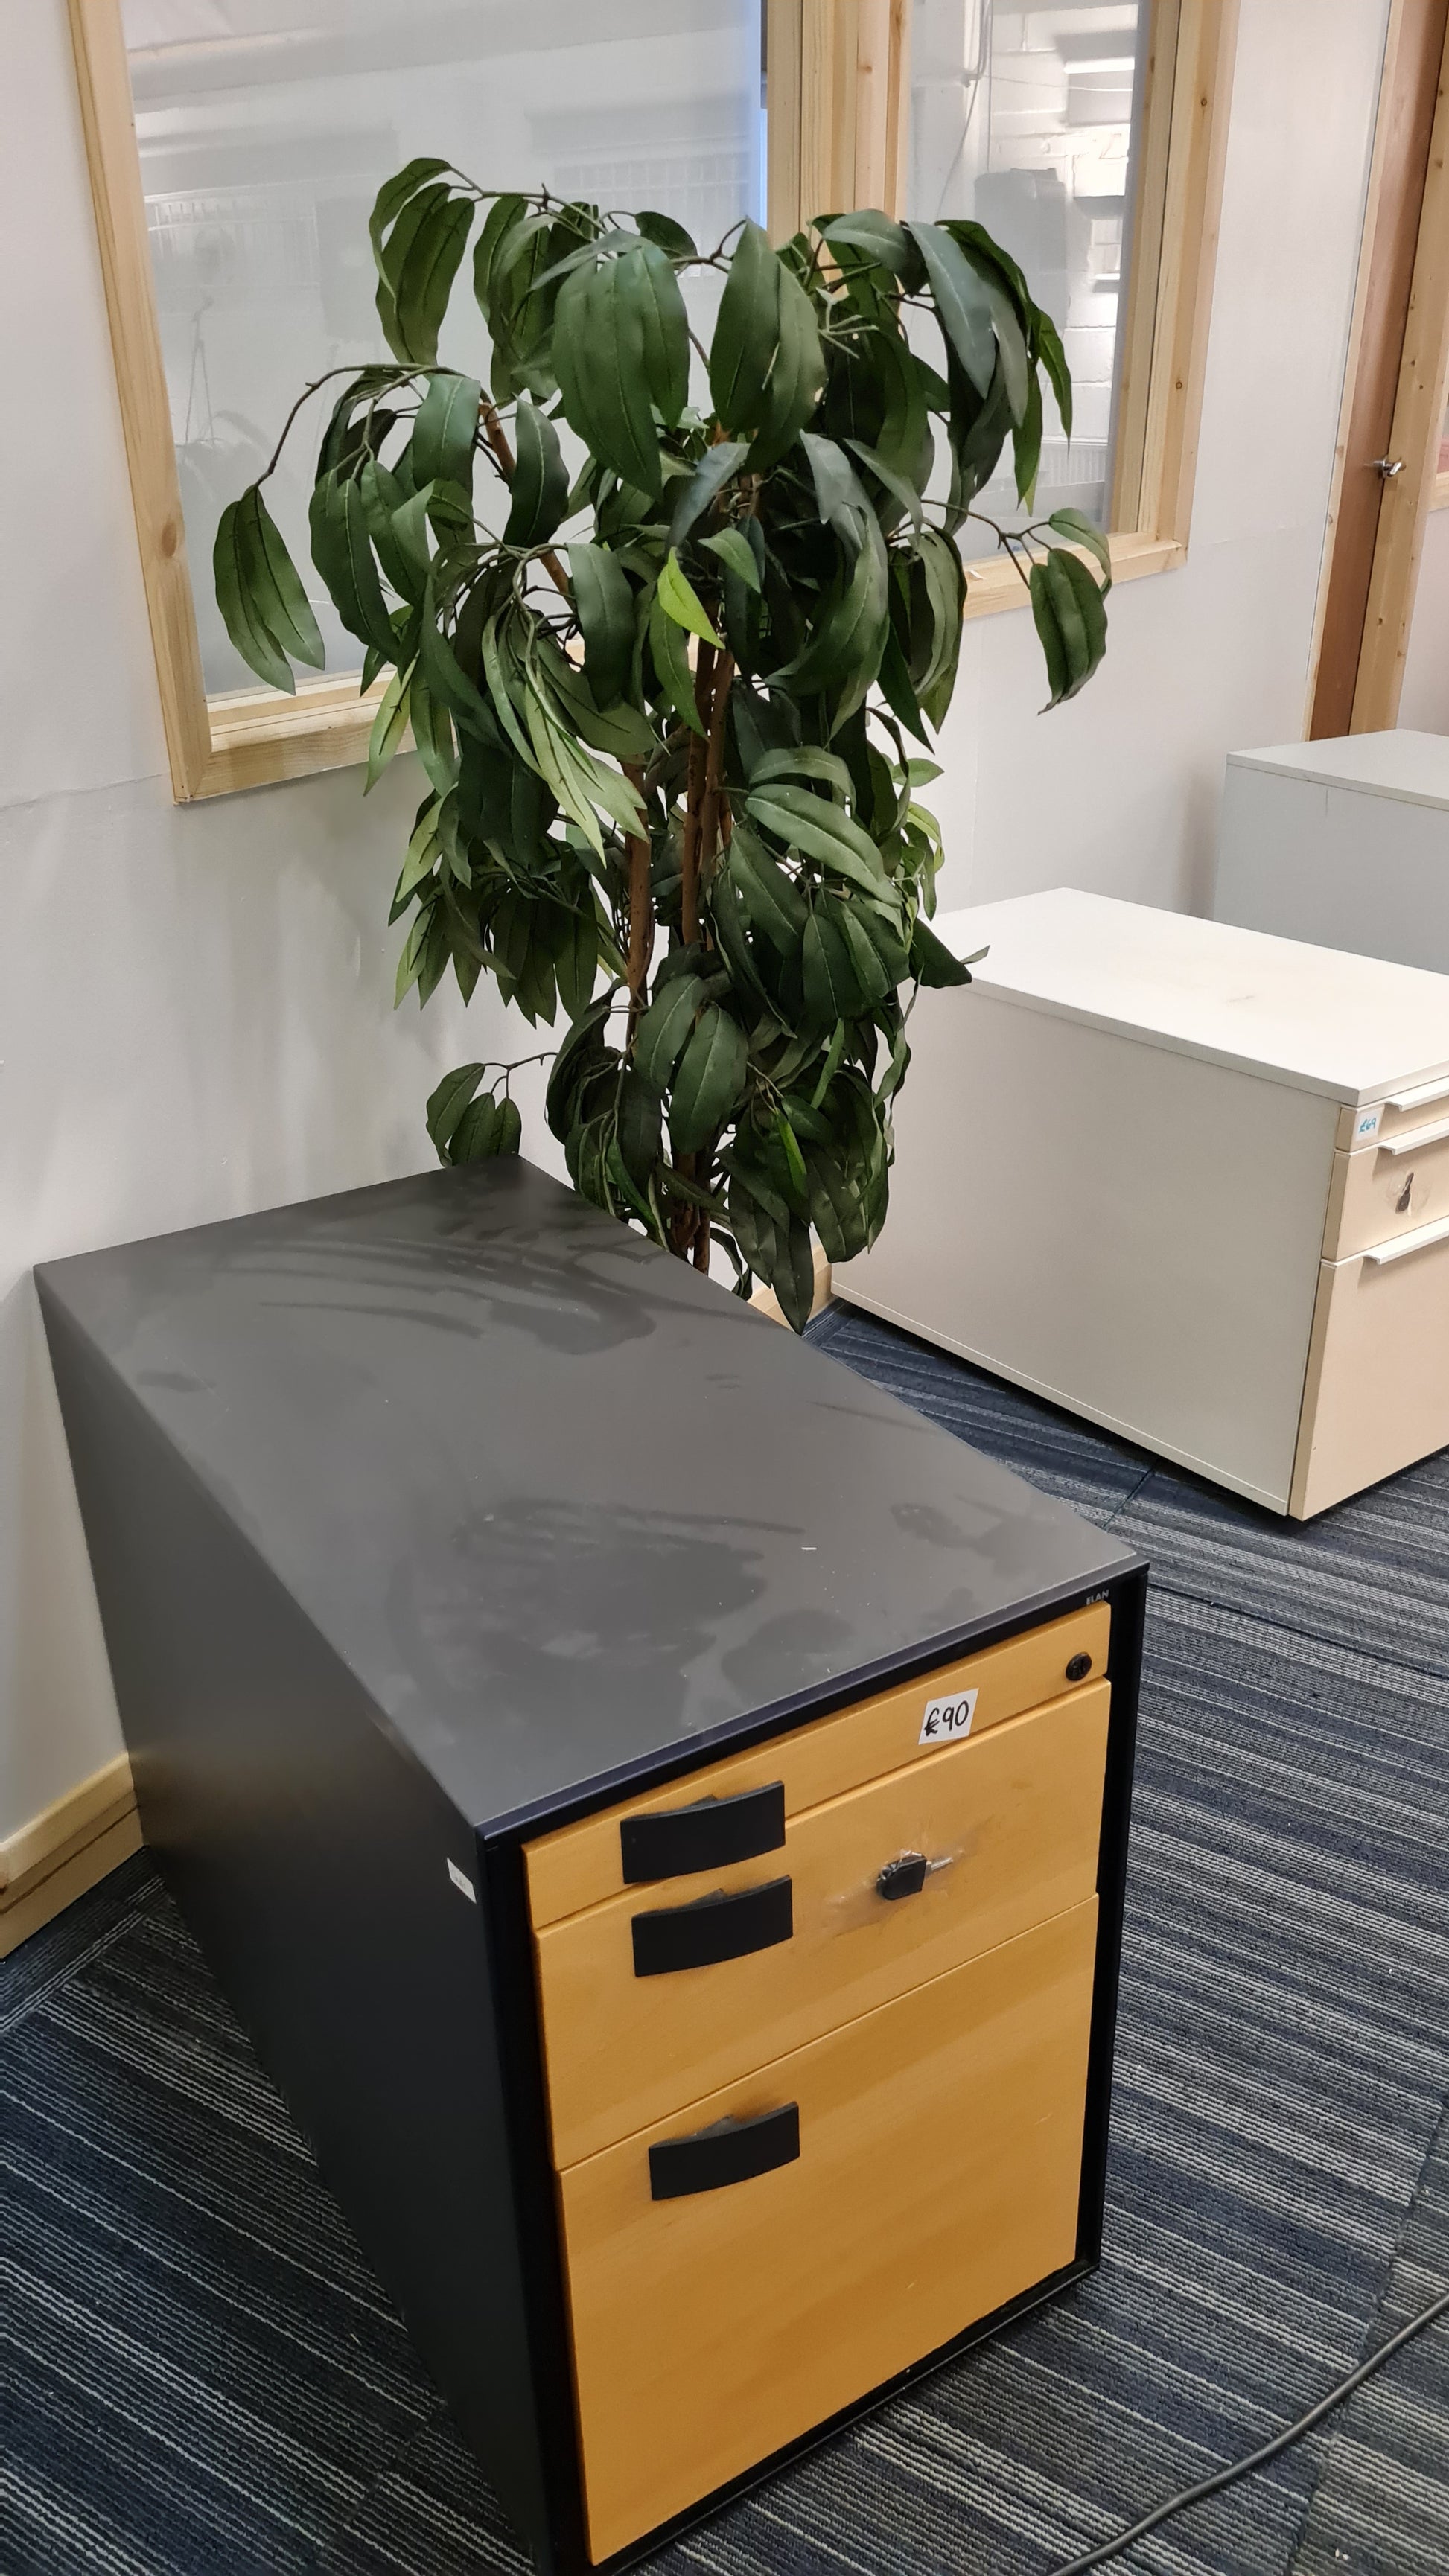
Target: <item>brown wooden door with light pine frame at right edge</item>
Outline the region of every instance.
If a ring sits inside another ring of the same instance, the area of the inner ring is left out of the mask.
[[[1392,0],[1307,693],[1315,742],[1397,721],[1446,368],[1449,0]]]

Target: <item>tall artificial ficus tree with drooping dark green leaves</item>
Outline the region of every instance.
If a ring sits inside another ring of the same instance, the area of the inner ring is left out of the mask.
[[[487,386],[438,366],[482,209]],[[397,999],[451,966],[464,997],[487,969],[526,1020],[562,1010],[547,1115],[575,1188],[699,1267],[719,1242],[799,1329],[812,1231],[848,1260],[884,1221],[913,992],[969,981],[928,927],[915,791],[957,677],[959,533],[1008,440],[1031,505],[1042,376],[1070,433],[1060,337],[967,222],[822,216],[779,252],[743,224],[699,252],[660,214],[415,160],[371,245],[394,363],[335,371],[309,526],[364,688],[392,672],[369,786],[407,732],[428,781]],[[709,350],[688,270],[722,273]],[[322,639],[260,482],[222,515],[217,598],[291,688]],[[1070,510],[987,526],[1057,706],[1104,654],[1106,544]],[[443,1162],[518,1149],[511,1072],[438,1084]]]

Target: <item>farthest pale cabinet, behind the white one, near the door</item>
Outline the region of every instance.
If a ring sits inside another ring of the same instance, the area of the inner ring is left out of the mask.
[[[1449,974],[1449,734],[1230,752],[1212,909]]]

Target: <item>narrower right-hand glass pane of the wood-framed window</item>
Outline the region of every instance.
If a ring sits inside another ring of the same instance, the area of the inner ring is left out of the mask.
[[[915,0],[910,28],[908,214],[975,216],[1026,270],[1062,332],[1075,412],[1067,448],[1047,394],[1036,518],[1073,507],[1098,528],[1111,495],[1145,46],[1147,0]],[[1008,471],[980,507],[1021,523]]]

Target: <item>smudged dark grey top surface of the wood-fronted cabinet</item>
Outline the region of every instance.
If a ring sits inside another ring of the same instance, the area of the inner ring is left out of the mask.
[[[526,1162],[39,1283],[480,1826],[1132,1564]]]

